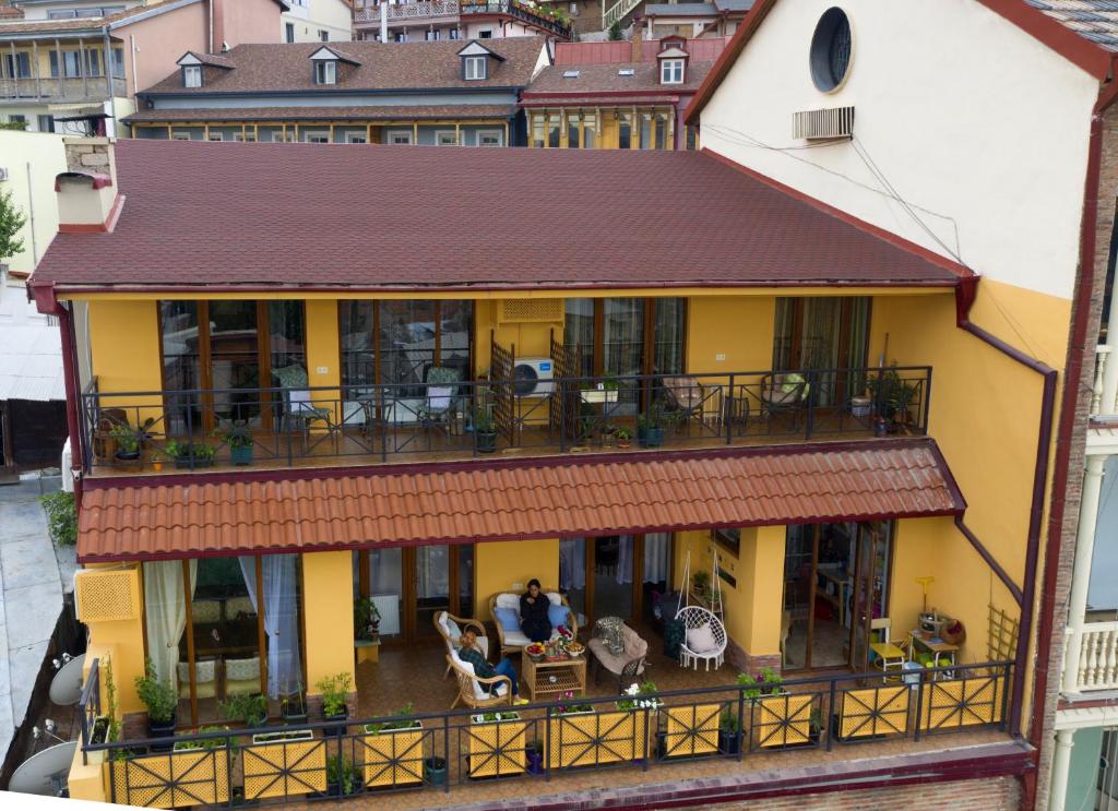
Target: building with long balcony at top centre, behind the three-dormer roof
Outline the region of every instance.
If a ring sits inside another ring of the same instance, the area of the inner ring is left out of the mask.
[[[358,39],[416,42],[437,39],[500,39],[541,35],[571,38],[568,16],[551,3],[519,0],[408,0],[375,3],[356,0],[353,31]]]

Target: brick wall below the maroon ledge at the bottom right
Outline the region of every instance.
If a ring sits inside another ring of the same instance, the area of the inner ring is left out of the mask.
[[[897,811],[898,809],[1001,811],[1002,809],[1016,809],[1020,804],[1021,783],[1014,777],[995,777],[954,783],[925,783],[888,789],[778,796],[723,803],[714,808],[720,811],[722,809],[748,809],[749,811],[804,811],[805,809],[828,809],[828,811]],[[695,805],[692,808],[711,807]]]

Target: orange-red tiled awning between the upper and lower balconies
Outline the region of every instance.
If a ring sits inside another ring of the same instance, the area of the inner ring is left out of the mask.
[[[186,478],[127,486],[87,479],[78,560],[871,521],[966,508],[929,439]]]

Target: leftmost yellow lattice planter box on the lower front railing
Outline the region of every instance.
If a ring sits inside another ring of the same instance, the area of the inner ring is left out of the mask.
[[[225,747],[140,755],[108,763],[106,771],[112,780],[108,799],[117,804],[180,808],[229,801]]]

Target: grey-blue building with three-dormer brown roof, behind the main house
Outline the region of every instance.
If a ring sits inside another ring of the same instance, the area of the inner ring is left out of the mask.
[[[188,53],[124,122],[138,139],[521,145],[517,102],[549,63],[542,37]]]

